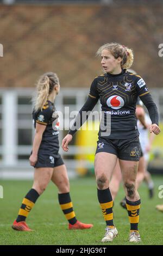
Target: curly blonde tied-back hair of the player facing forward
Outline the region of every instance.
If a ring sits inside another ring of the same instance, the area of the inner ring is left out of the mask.
[[[133,50],[129,49],[128,47],[118,44],[117,42],[111,42],[109,44],[104,44],[99,47],[98,51],[96,52],[96,56],[101,56],[103,50],[108,50],[111,54],[117,59],[118,57],[122,58],[121,61],[121,68],[122,69],[129,69],[130,66],[133,64],[134,54]]]

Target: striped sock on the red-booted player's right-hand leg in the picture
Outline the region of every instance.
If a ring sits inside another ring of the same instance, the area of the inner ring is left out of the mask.
[[[67,221],[73,225],[77,222],[76,215],[70,198],[70,193],[58,194],[58,200]]]

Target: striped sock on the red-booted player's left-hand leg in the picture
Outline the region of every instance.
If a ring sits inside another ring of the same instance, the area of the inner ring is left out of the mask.
[[[33,188],[26,194],[26,197],[24,197],[21,208],[18,212],[18,216],[16,221],[26,221],[26,218],[30,212],[30,210],[33,208],[37,198],[39,198],[40,194],[37,193],[36,190]]]

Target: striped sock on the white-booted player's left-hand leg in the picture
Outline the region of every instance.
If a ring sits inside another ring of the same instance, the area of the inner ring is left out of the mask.
[[[112,196],[109,187],[105,190],[99,190],[97,188],[97,197],[102,209],[103,217],[108,226],[114,226],[113,213],[112,213]]]

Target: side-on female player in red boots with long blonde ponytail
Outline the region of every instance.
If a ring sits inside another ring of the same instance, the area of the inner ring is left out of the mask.
[[[35,136],[29,157],[30,165],[35,168],[34,183],[24,197],[17,219],[12,224],[15,230],[32,231],[26,223],[26,218],[51,180],[58,187],[59,204],[69,222],[68,228],[86,229],[93,226],[79,222],[76,218],[70,198],[66,166],[58,153],[59,120],[53,102],[59,89],[59,78],[53,72],[43,74],[37,83],[33,111]]]

